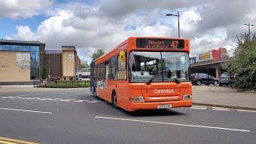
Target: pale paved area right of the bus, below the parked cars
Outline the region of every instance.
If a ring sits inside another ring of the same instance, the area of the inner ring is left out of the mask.
[[[193,86],[192,93],[196,105],[256,110],[254,92],[238,92],[230,86]]]

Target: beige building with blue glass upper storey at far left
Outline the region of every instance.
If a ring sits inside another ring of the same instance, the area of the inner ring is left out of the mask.
[[[0,82],[40,79],[45,43],[0,39]]]

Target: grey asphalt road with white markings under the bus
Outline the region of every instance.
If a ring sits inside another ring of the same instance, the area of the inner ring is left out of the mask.
[[[254,111],[193,106],[129,113],[89,89],[0,97],[0,143],[256,143]]]

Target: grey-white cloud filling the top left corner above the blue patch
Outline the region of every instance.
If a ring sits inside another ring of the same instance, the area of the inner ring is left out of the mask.
[[[53,4],[52,0],[0,0],[0,18],[30,18]]]

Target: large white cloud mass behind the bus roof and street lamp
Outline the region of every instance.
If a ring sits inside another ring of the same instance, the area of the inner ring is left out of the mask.
[[[235,23],[236,18],[231,18],[232,22],[228,22],[228,19],[225,22],[220,21],[217,16],[222,15],[214,14],[218,13],[218,7],[222,7],[219,8],[221,12],[224,8],[234,10],[234,7],[222,6],[221,2],[106,2],[100,1],[98,6],[79,2],[62,4],[51,10],[50,17],[36,31],[32,32],[29,26],[17,26],[17,33],[6,37],[46,42],[46,49],[74,45],[78,48],[79,56],[89,61],[90,54],[95,49],[110,50],[130,36],[176,37],[177,18],[166,17],[166,13],[175,13],[177,10],[181,14],[181,36],[190,38],[192,55],[221,46],[231,50],[234,47],[235,34],[245,29],[239,22]],[[228,2],[224,2],[226,3]],[[238,3],[231,6],[237,6]],[[207,18],[204,13],[212,18]],[[228,12],[223,18],[228,18],[229,14],[231,13]],[[245,15],[248,19],[249,15],[255,15],[255,10],[246,10]]]

